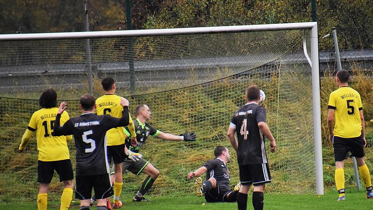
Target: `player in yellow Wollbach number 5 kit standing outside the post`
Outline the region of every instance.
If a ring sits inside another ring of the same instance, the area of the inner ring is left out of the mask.
[[[336,75],[338,89],[330,93],[328,103],[329,138],[333,142],[336,161],[335,180],[339,197],[337,201],[345,200],[344,189],[344,159],[348,152],[356,157],[360,175],[367,188],[367,198],[373,198],[371,175],[364,160],[365,124],[363,106],[360,94],[348,87],[350,73],[339,70]],[[334,126],[334,118],[336,120]]]

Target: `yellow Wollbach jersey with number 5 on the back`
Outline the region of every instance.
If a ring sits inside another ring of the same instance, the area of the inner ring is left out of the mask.
[[[350,87],[340,87],[329,97],[328,108],[335,109],[333,133],[342,138],[355,138],[361,135],[359,110],[362,110],[360,94]]]

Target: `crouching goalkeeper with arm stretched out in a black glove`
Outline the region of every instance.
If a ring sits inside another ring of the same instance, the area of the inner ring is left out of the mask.
[[[163,140],[184,140],[184,141],[194,141],[196,140],[196,135],[186,131],[180,136],[172,135],[169,133],[163,133],[155,129],[152,125],[146,123],[151,118],[152,112],[147,105],[137,105],[136,106],[136,120],[134,121],[136,130],[136,146],[131,144],[131,133],[129,128],[125,127],[124,132],[127,135],[126,146],[129,150],[134,153],[138,153],[140,148],[145,144],[146,139],[149,135],[163,139]],[[148,177],[145,178],[140,190],[132,198],[133,201],[148,201],[144,194],[153,186],[155,179],[159,175],[159,171],[151,164],[149,161],[141,158],[139,161],[134,162],[130,158],[126,158],[123,162],[123,171],[128,170],[135,175],[140,173],[147,174]]]

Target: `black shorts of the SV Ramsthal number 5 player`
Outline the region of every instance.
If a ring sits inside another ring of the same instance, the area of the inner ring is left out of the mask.
[[[92,188],[97,199],[103,199],[112,196],[109,174],[76,176],[75,198],[79,200],[90,199]]]

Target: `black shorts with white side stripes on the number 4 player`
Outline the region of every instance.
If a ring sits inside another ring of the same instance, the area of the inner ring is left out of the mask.
[[[239,165],[239,181],[241,185],[254,186],[271,182],[271,173],[268,163]]]

